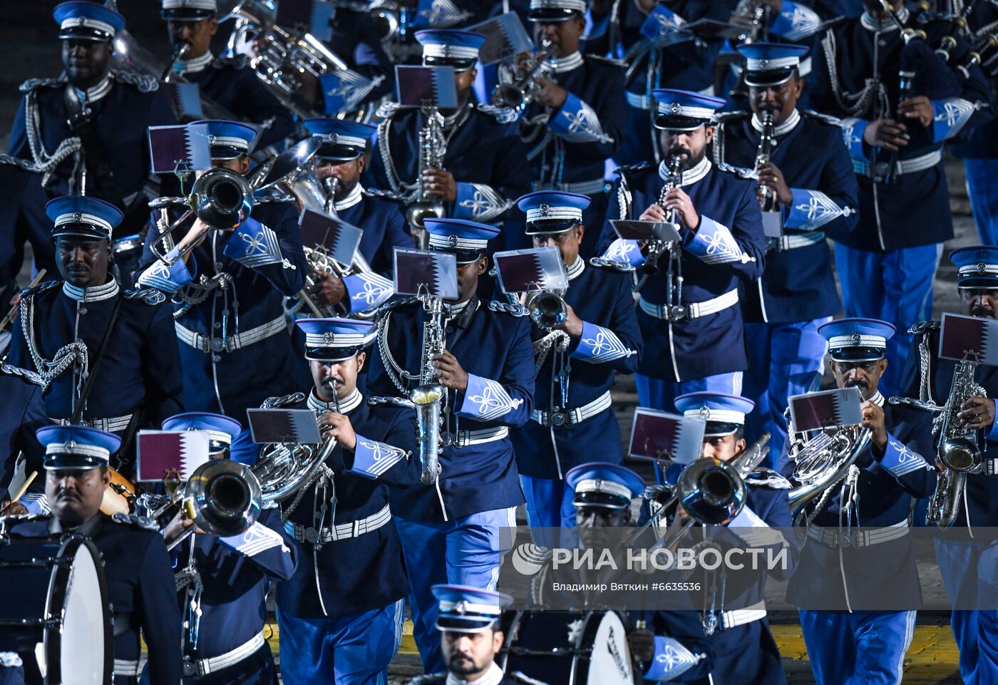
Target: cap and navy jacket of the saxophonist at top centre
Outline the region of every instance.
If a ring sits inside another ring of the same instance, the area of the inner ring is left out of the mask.
[[[453,66],[472,69],[478,48],[485,37],[467,31],[418,31],[427,66]],[[443,168],[453,174],[457,197],[447,207],[447,216],[485,224],[500,221],[512,207],[513,198],[523,195],[530,170],[526,146],[515,123],[501,123],[475,102],[474,93],[456,112],[439,113],[446,153]],[[399,193],[417,181],[418,138],[426,121],[417,108],[382,108],[385,115],[378,125],[378,154],[371,164],[375,187]],[[416,154],[414,154],[416,153]],[[390,161],[390,167],[385,163]]]

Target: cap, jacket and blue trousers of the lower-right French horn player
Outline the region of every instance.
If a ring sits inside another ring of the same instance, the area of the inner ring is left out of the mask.
[[[842,362],[883,358],[894,333],[889,324],[863,319],[830,322],[818,331],[832,360]],[[786,590],[787,600],[801,607],[818,685],[896,683],[914,628],[912,598],[920,602],[908,512],[911,498],[927,496],[935,484],[935,469],[921,456],[933,453],[930,421],[926,412],[885,402],[878,389],[869,401],[883,407],[887,445],[881,451],[871,442],[843,485],[832,486],[825,506],[816,515],[808,511],[807,542]],[[871,568],[871,555],[877,573],[860,572]],[[850,598],[904,610],[853,610]],[[848,611],[826,610],[843,606]]]

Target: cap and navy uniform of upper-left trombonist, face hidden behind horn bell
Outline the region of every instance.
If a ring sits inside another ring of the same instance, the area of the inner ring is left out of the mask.
[[[249,126],[197,123],[209,126],[214,160],[250,154],[256,132]],[[188,263],[178,259],[172,266],[153,253],[156,233],[146,238],[137,281],[169,294],[175,303],[185,407],[236,418],[270,394],[292,392],[305,371],[293,354],[283,298],[301,291],[306,268],[293,210],[256,205],[237,229],[210,231],[189,253]],[[255,454],[245,428],[233,442],[232,458],[251,462]]]

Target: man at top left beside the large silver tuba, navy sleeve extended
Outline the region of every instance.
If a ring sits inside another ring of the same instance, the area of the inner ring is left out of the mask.
[[[200,92],[234,116],[260,125],[257,146],[269,147],[294,133],[294,119],[256,73],[246,57],[217,58],[212,38],[219,31],[216,0],[163,0],[161,16],[178,56],[168,80],[198,84]]]

